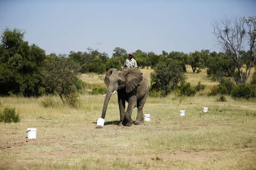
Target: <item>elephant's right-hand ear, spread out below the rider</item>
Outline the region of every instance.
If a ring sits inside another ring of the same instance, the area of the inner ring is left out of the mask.
[[[125,69],[126,71],[126,92],[129,93],[131,91],[134,90],[135,87],[137,87],[139,85],[139,83],[141,83],[143,76],[141,71],[136,68],[136,67],[132,67],[129,69]]]

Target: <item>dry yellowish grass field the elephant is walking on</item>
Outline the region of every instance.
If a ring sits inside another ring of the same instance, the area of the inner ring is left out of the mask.
[[[151,71],[142,70],[148,78]],[[101,95],[82,95],[79,109],[64,107],[57,96],[0,97],[0,108],[15,107],[22,118],[0,123],[0,169],[256,169],[256,99],[217,102],[205,95],[218,84],[205,70],[186,75],[205,90],[194,97],[148,97],[144,113],[151,121],[131,127],[117,126],[116,95],[103,129],[95,128]],[[104,85],[103,77],[81,75],[89,84]],[[45,101],[52,105],[44,107]],[[26,138],[27,128],[38,129],[36,140]]]

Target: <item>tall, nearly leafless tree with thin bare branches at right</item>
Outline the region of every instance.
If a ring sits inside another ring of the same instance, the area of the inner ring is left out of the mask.
[[[230,58],[236,63],[236,68],[240,75],[238,83],[246,83],[251,67],[256,60],[256,16],[249,17],[248,19],[224,19],[220,22],[214,22],[213,34],[217,37],[217,42],[221,45],[224,52],[229,54]],[[245,43],[246,38],[248,40],[247,44]],[[243,52],[245,46],[249,47],[247,53]],[[243,65],[246,66],[245,78],[241,70]]]

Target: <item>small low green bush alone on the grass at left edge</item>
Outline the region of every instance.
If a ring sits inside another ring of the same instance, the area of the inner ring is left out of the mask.
[[[19,121],[20,121],[20,117],[19,117],[19,114],[16,114],[15,108],[6,107],[2,111],[0,111],[0,122],[16,123]]]

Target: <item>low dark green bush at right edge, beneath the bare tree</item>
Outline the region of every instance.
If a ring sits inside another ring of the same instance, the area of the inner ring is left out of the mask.
[[[256,93],[255,85],[239,84],[232,90],[231,96],[234,98],[250,99],[250,97],[255,97],[255,93]]]

